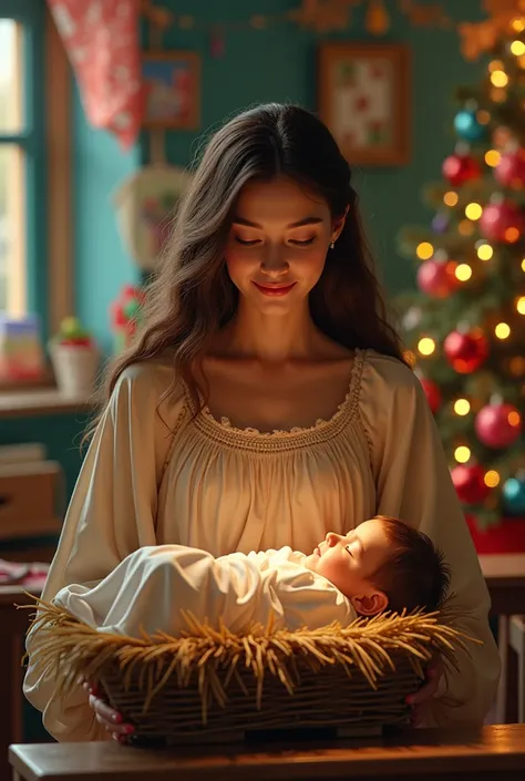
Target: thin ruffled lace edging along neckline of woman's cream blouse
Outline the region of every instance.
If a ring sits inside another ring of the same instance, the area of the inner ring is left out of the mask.
[[[361,373],[364,363],[366,351],[356,348],[352,371],[350,373],[350,382],[347,394],[338,405],[336,412],[330,418],[319,418],[312,425],[294,427],[291,429],[275,429],[274,431],[259,431],[255,428],[240,429],[235,427],[229,418],[223,417],[220,420],[215,418],[207,405],[198,413],[196,421],[199,420],[207,423],[210,428],[220,430],[225,433],[235,435],[236,438],[257,438],[260,440],[287,439],[291,436],[303,436],[305,434],[320,433],[327,428],[331,428],[342,418],[353,414],[357,405],[359,391],[361,387]]]

